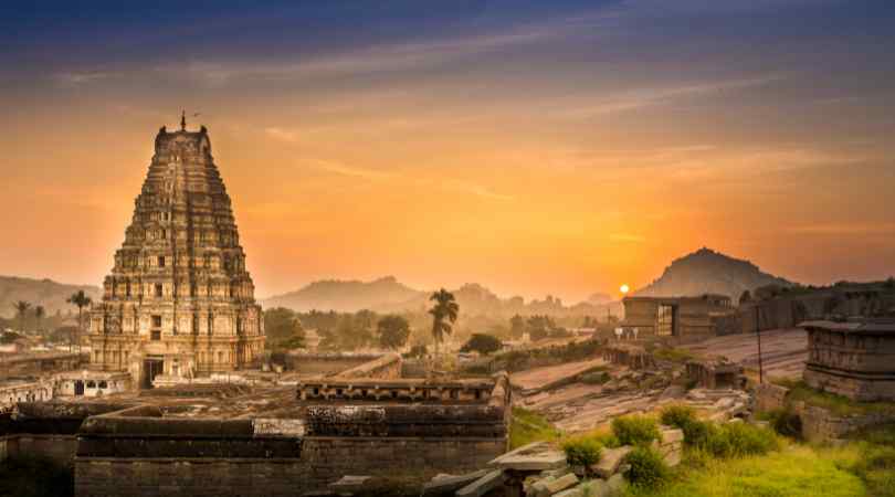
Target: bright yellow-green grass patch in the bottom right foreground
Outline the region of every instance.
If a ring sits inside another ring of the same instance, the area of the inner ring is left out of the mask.
[[[694,456],[695,454],[695,456]],[[856,497],[866,495],[856,475],[810,447],[739,459],[706,457],[688,451],[685,461],[659,488],[630,487],[636,497]]]

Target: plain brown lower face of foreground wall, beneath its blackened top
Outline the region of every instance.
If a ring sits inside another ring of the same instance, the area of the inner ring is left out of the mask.
[[[494,440],[306,437],[298,457],[81,457],[75,495],[296,496],[344,475],[419,483],[470,473],[504,452]]]

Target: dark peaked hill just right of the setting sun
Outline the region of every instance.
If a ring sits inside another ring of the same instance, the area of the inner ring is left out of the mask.
[[[764,285],[791,286],[781,277],[762,273],[758,266],[709,248],[699,248],[672,261],[659,279],[635,292],[642,297],[671,297],[702,294],[728,295],[736,303],[744,290]]]

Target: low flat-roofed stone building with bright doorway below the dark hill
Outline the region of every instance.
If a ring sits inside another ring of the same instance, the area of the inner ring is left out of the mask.
[[[625,331],[636,338],[668,337],[694,341],[715,336],[714,319],[735,313],[730,297],[706,294],[698,297],[625,297]]]

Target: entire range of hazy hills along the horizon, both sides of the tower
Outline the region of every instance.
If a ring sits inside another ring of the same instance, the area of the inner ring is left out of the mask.
[[[672,262],[662,276],[646,287],[636,290],[638,296],[684,296],[706,293],[728,295],[735,300],[743,290],[764,285],[790,286],[792,283],[778,276],[762,273],[755,264],[709,248],[701,248]],[[51,279],[32,279],[0,276],[0,316],[12,317],[13,304],[27,300],[32,306],[41,305],[48,315],[56,310],[66,313],[74,307],[65,303],[73,293],[83,289],[94,302],[102,298],[99,287],[66,285]],[[411,288],[386,276],[371,282],[327,279],[310,283],[287,294],[263,299],[265,308],[286,307],[298,311],[312,309],[357,311],[370,309],[380,313],[422,311],[430,307],[431,290]],[[470,283],[453,290],[462,313],[474,315],[550,314],[554,316],[606,316],[607,311],[620,315],[621,303],[608,294],[594,293],[587,300],[565,305],[559,298],[547,296],[543,300],[525,302],[523,297],[502,298],[488,288]]]

